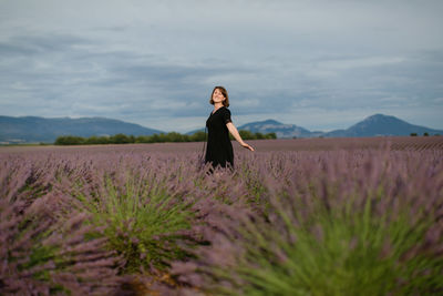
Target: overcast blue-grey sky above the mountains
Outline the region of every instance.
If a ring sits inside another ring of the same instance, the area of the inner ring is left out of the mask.
[[[443,129],[441,0],[0,0],[0,115]]]

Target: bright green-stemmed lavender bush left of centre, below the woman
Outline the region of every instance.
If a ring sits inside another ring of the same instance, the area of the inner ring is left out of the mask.
[[[84,178],[78,178],[71,194],[80,202],[78,207],[92,215],[92,223],[104,227],[109,248],[124,256],[124,273],[164,269],[171,261],[189,256],[186,246],[197,241],[189,234],[195,200],[185,181],[174,186],[169,175],[131,169],[96,175],[100,182],[92,187],[97,190],[84,191]]]

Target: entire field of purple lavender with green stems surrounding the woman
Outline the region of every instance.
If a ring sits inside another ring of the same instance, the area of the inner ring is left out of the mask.
[[[443,294],[442,136],[250,144],[0,147],[0,295]]]

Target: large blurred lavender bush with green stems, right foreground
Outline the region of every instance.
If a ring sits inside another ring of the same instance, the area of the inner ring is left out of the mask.
[[[282,157],[282,163],[249,163],[251,171],[267,172],[269,215],[227,211],[210,248],[174,265],[179,280],[217,295],[443,290],[440,153]],[[272,177],[272,166],[287,174]]]

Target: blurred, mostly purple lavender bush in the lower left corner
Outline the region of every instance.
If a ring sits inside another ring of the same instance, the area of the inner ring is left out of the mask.
[[[53,171],[13,164],[7,164],[11,170],[2,170],[0,177],[0,294],[116,290],[124,279],[116,275],[122,261],[104,248],[104,238],[87,238],[86,214],[60,215],[69,201],[49,191],[47,174]]]

